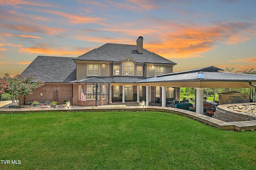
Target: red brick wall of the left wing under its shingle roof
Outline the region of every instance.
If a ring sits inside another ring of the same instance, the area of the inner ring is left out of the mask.
[[[43,94],[43,97],[40,96]],[[33,94],[25,96],[25,104],[33,102],[34,100],[40,102],[41,100],[57,101],[60,104],[64,100],[72,101],[72,84],[69,83],[45,83],[44,86],[36,88]],[[22,101],[24,104],[24,101]]]

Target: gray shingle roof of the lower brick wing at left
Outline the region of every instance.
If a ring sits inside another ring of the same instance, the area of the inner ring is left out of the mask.
[[[22,76],[36,75],[43,82],[70,82],[76,80],[76,63],[71,57],[38,56],[22,72]]]

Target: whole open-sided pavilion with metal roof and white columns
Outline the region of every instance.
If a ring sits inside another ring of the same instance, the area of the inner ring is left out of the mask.
[[[203,114],[204,88],[255,88],[256,75],[223,72],[224,70],[210,66],[182,72],[174,72],[154,76],[138,82],[144,86],[188,87],[196,89],[196,113]],[[254,82],[254,84],[253,84]],[[146,94],[146,100],[148,99]],[[165,90],[162,90],[162,106],[166,106]]]

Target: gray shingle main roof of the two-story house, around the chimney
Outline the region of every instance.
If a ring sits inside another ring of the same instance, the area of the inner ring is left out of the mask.
[[[97,49],[93,49],[74,60],[97,60],[97,61],[113,61],[120,62],[124,57],[131,57],[136,60],[136,63],[161,63],[161,64],[176,64],[160,55],[151,53],[143,49],[143,54],[139,54],[136,45],[112,44],[106,43]]]

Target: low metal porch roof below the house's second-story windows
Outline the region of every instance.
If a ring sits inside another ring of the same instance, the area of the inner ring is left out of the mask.
[[[80,80],[71,81],[71,83],[135,83],[144,80],[144,77],[88,77]]]

